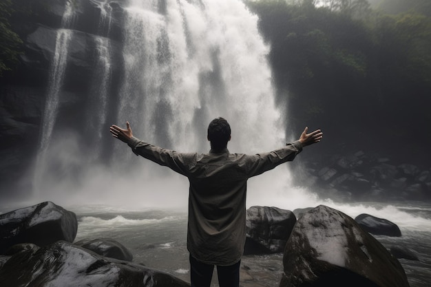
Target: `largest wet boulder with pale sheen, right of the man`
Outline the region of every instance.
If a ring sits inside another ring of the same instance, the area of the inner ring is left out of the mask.
[[[317,206],[286,244],[280,287],[408,287],[401,264],[348,215]]]

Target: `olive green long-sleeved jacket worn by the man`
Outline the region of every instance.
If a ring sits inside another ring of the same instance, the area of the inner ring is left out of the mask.
[[[189,178],[187,248],[198,261],[220,266],[237,263],[244,251],[247,180],[293,160],[302,151],[299,141],[255,155],[229,153],[228,149],[178,153],[138,138],[131,138],[128,145],[136,155]]]

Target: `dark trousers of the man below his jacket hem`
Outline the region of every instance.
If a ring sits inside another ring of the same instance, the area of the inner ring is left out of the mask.
[[[239,287],[240,286],[240,264],[241,261],[231,266],[217,266],[218,286]],[[190,255],[190,279],[191,287],[209,287],[213,277],[214,266],[198,262]]]

